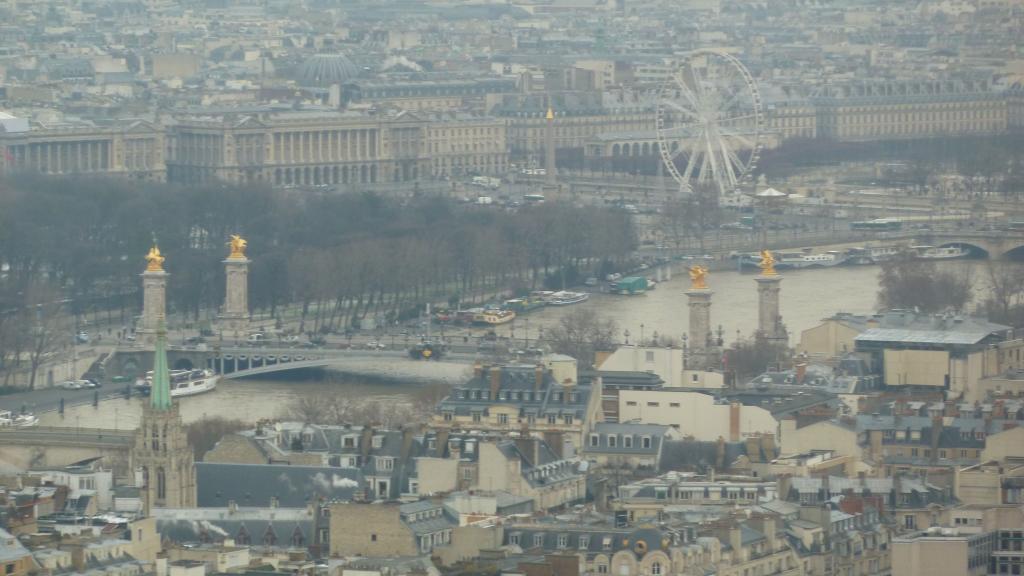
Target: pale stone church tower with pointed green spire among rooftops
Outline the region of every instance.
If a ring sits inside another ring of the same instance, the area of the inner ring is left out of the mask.
[[[163,263],[162,257],[160,263]],[[171,400],[164,318],[164,311],[160,311],[153,357],[153,385],[150,400],[142,408],[142,420],[135,433],[132,450],[135,465],[142,469],[142,505],[146,516],[155,507],[196,506],[196,460],[181,424],[178,406]]]

